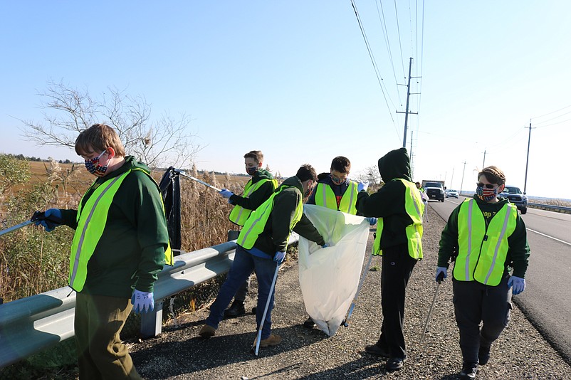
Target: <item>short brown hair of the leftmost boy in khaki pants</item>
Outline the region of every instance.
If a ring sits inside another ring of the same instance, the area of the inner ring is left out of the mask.
[[[82,155],[90,152],[102,152],[107,148],[115,150],[115,156],[125,157],[125,148],[117,132],[105,124],[94,124],[80,132],[75,139],[75,153]]]

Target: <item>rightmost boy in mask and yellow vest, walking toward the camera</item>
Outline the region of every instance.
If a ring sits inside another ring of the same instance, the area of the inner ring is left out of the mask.
[[[440,239],[436,280],[447,277],[449,260],[455,260],[452,290],[462,379],[475,379],[478,365],[488,362],[491,344],[510,320],[512,295],[525,289],[530,255],[525,223],[508,199],[498,199],[504,186],[500,169],[484,168],[473,199],[452,211]]]

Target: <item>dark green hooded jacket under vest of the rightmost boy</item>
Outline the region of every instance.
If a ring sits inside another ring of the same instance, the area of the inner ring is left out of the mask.
[[[482,201],[478,196],[474,196],[478,208],[482,211],[486,218],[486,226],[490,219],[496,215],[498,211],[508,202],[508,199],[500,198],[495,204]],[[448,223],[444,227],[440,238],[440,248],[438,252],[438,266],[448,268],[449,260],[453,258],[458,252],[458,215],[460,212],[459,204],[448,218]],[[489,216],[489,217],[486,217]],[[525,230],[525,223],[518,215],[515,223],[515,231],[508,237],[508,255],[505,258],[505,270],[508,267],[513,268],[513,275],[525,278],[525,270],[528,269],[530,247],[528,245],[527,231]]]

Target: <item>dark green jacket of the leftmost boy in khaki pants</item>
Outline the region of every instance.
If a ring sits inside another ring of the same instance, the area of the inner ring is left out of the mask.
[[[107,176],[95,179],[86,191],[84,202],[93,194],[93,186],[119,176],[129,169],[150,170],[135,157]],[[61,210],[63,224],[77,228],[77,210]],[[130,297],[132,288],[152,292],[164,264],[169,233],[157,184],[142,171],[132,171],[115,194],[105,230],[88,263],[82,292],[111,297]]]

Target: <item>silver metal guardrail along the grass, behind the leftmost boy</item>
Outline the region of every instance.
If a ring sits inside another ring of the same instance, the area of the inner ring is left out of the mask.
[[[292,233],[290,243],[298,238]],[[164,299],[228,272],[235,251],[234,240],[175,256],[174,265],[165,267],[154,285],[154,312],[142,315],[142,336],[161,332]],[[70,287],[0,305],[0,368],[73,337],[74,317],[75,292]]]

